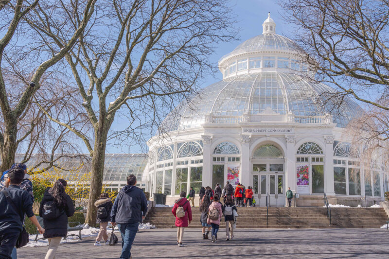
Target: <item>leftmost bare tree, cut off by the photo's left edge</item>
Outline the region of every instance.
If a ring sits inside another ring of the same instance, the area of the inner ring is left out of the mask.
[[[68,6],[69,12],[80,16],[76,26],[68,29],[47,28],[53,34],[66,35],[60,46],[54,42],[38,40],[36,33],[24,19],[33,14],[36,17],[49,16],[50,20],[56,19],[60,23],[62,14],[56,13],[55,9],[62,1],[48,5],[46,10],[36,9],[39,0],[1,1],[0,30],[3,35],[0,39],[0,108],[3,119],[0,131],[1,171],[14,163],[18,145],[34,132],[38,125],[37,121],[42,118],[39,114],[35,114],[37,116],[35,118],[31,117],[32,97],[40,88],[48,70],[77,42],[94,13],[95,1],[83,1],[81,4],[75,0]],[[25,118],[28,116],[30,120],[26,123]],[[18,134],[19,129],[24,129],[24,133]],[[30,136],[30,139],[34,138]]]

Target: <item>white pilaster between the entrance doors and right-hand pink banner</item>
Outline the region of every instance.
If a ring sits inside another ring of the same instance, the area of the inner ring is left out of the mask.
[[[297,189],[297,178],[296,178],[296,157],[295,157],[295,136],[285,136],[286,138],[286,157],[285,157],[285,190],[296,192]],[[286,196],[285,196],[286,197]],[[286,198],[285,198],[286,199]],[[287,206],[287,202],[285,201],[285,207]]]

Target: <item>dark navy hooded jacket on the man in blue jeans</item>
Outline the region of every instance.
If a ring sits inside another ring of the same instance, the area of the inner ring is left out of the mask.
[[[119,191],[111,210],[111,222],[119,224],[142,222],[147,213],[147,200],[143,191],[126,185]]]

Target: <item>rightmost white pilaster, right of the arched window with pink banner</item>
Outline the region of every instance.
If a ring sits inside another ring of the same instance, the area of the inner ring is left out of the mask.
[[[334,189],[334,136],[324,136],[324,191],[327,196],[335,195]]]

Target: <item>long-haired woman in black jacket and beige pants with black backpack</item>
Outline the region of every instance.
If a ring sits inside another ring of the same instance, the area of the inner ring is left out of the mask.
[[[68,234],[68,217],[73,216],[74,206],[71,197],[66,194],[67,182],[55,181],[52,188],[47,188],[39,206],[39,216],[43,218],[46,228],[43,237],[49,241],[49,250],[45,259],[55,259],[61,239]],[[60,258],[64,257],[63,255]]]

